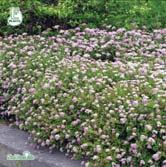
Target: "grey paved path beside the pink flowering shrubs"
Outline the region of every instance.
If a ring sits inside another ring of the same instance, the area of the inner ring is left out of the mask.
[[[7,125],[0,124],[0,167],[80,167],[80,161],[67,158],[56,151],[49,154],[48,149],[36,150],[26,145],[28,134]],[[33,161],[7,161],[7,154],[22,154],[29,151],[35,156]]]

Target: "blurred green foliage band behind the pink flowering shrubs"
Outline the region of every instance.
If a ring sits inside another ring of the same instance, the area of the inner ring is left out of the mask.
[[[10,7],[20,7],[23,23],[7,25]],[[165,0],[0,0],[0,35],[30,34],[60,25],[71,28],[86,23],[89,27],[166,26]]]

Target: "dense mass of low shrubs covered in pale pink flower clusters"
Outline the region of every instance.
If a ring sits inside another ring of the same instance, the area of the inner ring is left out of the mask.
[[[123,28],[3,38],[0,114],[85,166],[162,166],[165,38],[166,29]]]

